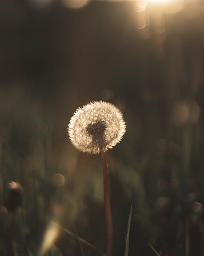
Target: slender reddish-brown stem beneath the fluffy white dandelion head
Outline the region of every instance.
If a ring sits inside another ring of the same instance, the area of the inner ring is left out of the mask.
[[[103,167],[103,184],[104,184],[104,205],[106,214],[106,256],[112,256],[113,247],[113,223],[111,215],[111,202],[109,193],[109,177],[106,161],[106,154],[103,149],[100,150],[102,167]]]

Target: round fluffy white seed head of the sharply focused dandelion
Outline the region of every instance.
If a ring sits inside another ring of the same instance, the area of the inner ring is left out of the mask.
[[[90,102],[78,108],[68,125],[71,143],[78,150],[90,154],[114,147],[125,130],[120,110],[104,101]]]

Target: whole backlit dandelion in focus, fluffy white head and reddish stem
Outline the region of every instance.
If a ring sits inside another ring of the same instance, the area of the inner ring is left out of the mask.
[[[105,152],[122,139],[125,130],[125,122],[119,109],[103,101],[91,102],[78,108],[68,125],[69,138],[78,150],[90,154],[101,154],[106,213],[106,256],[112,255],[113,223]]]

